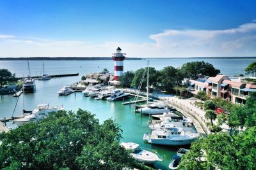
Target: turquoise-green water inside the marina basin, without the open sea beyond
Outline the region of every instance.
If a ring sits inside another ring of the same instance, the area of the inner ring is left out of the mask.
[[[157,169],[168,169],[168,164],[175,155],[178,148],[176,146],[157,146],[150,145],[143,141],[143,134],[150,132],[148,128],[148,115],[134,113],[133,106],[123,105],[122,101],[101,101],[92,97],[84,97],[81,92],[70,94],[69,96],[58,96],[57,92],[64,85],[69,85],[79,80],[79,76],[52,79],[49,81],[36,81],[36,92],[34,94],[22,94],[19,97],[14,116],[21,115],[22,108],[33,110],[37,104],[49,103],[51,106],[63,106],[65,110],[78,108],[88,110],[96,115],[102,123],[107,118],[113,118],[123,130],[125,142],[134,142],[145,148],[156,151],[161,157],[162,162],[157,162],[154,167]],[[132,100],[132,98],[130,98]],[[0,96],[0,117],[11,117],[15,107],[17,97],[12,95]],[[10,124],[8,126],[11,126]]]

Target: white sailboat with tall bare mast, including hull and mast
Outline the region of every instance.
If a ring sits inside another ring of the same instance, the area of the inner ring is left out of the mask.
[[[149,60],[147,63],[147,67],[149,64]],[[169,112],[170,110],[168,110],[168,107],[166,106],[166,104],[164,103],[152,103],[152,104],[148,104],[148,71],[149,67],[147,69],[147,102],[146,102],[146,106],[142,107],[142,108],[138,108],[138,112],[143,113],[143,114],[148,114],[148,115],[154,115],[154,114],[163,114],[164,112]]]

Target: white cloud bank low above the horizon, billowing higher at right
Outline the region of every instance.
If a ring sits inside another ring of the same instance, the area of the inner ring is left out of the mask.
[[[128,57],[255,56],[256,23],[223,30],[166,30],[154,43],[52,41],[0,35],[0,57],[110,57],[121,46]]]

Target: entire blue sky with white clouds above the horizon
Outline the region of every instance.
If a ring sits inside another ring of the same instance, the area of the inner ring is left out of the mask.
[[[255,0],[1,0],[0,57],[256,56]]]

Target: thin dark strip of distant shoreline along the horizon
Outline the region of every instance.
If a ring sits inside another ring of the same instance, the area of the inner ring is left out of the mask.
[[[255,57],[126,57],[125,60],[145,59],[256,59]],[[111,57],[0,57],[0,60],[112,60]]]

